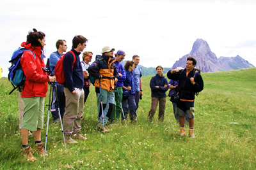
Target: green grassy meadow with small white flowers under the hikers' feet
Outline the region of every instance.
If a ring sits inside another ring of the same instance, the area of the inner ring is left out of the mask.
[[[7,78],[0,80],[0,169],[256,169],[256,68],[202,73],[204,90],[195,99],[195,139],[179,136],[172,103],[167,97],[164,122],[147,122],[151,104],[149,82],[143,76],[143,97],[138,123],[109,127],[98,132],[97,99],[94,87],[84,105],[82,132],[88,141],[63,143],[60,124],[49,121],[47,153],[33,155],[28,162],[21,155],[17,94]],[[45,98],[45,141],[49,94]],[[157,108],[158,109],[158,108]],[[51,117],[51,113],[50,113]],[[186,125],[188,134],[188,125]],[[35,147],[33,136],[29,145]]]

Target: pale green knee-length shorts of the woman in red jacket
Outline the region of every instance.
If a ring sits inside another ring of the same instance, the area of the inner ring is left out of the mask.
[[[29,131],[44,128],[44,99],[45,97],[23,97],[24,114],[21,127]]]

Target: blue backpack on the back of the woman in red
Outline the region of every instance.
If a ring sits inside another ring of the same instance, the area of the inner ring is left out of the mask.
[[[24,84],[26,76],[22,71],[21,65],[20,65],[20,59],[23,55],[23,52],[25,51],[25,48],[21,47],[15,50],[12,54],[12,59],[9,61],[12,63],[12,66],[9,68],[9,74],[8,74],[8,80],[12,83],[13,90],[9,93],[12,94],[12,92]],[[28,50],[30,51],[30,50]],[[31,52],[31,51],[30,51]],[[33,52],[31,52],[33,53]],[[35,53],[33,53],[36,59]],[[16,87],[15,87],[16,86]]]

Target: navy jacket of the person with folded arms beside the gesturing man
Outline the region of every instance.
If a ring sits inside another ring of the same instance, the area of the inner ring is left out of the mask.
[[[164,87],[167,85],[167,87]],[[156,86],[159,86],[157,88]],[[162,75],[156,74],[150,80],[151,97],[166,97],[166,91],[169,89],[167,79]]]

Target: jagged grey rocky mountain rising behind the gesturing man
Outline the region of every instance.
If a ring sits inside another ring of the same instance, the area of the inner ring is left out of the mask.
[[[254,67],[247,60],[237,55],[236,57],[220,57],[217,59],[204,39],[196,39],[193,44],[192,50],[187,55],[177,60],[173,64],[172,69],[177,67],[186,67],[186,60],[189,56],[196,59],[196,67],[202,72],[215,72],[215,71],[228,71],[234,69],[242,69]]]

